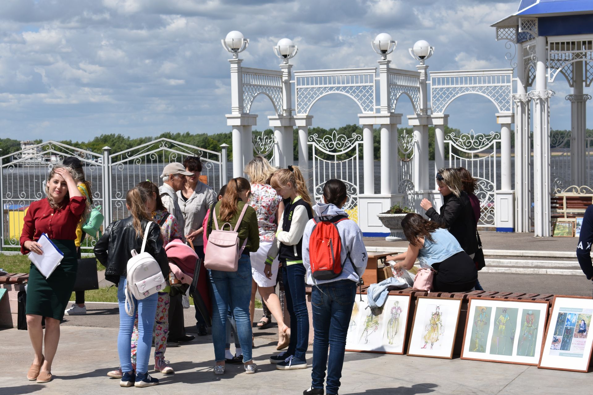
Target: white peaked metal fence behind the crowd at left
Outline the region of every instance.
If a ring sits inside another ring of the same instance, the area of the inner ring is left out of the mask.
[[[101,205],[106,227],[112,220],[128,213],[126,192],[146,179],[161,185],[160,175],[170,162],[183,162],[187,156],[202,160],[202,175],[215,191],[227,183],[227,147],[213,152],[169,139],[158,139],[110,155],[81,150],[58,142],[44,142],[10,155],[0,157],[0,251],[18,248],[25,210],[33,201],[45,197],[49,169],[62,163],[66,156],[75,156],[84,163],[85,178],[91,182],[93,205]],[[95,240],[87,237],[83,249],[93,248]]]

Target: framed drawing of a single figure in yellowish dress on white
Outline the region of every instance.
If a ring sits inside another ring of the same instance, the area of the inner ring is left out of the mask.
[[[460,311],[461,299],[418,297],[407,355],[451,359]]]

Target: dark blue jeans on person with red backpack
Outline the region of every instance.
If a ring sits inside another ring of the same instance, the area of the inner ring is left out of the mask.
[[[339,280],[314,285],[311,293],[313,309],[313,370],[311,387],[323,388],[326,376],[326,394],[337,394],[342,377],[346,332],[356,297],[356,282]],[[329,360],[327,347],[329,346]]]

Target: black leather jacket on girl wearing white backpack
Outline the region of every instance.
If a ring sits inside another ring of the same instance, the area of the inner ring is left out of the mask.
[[[127,261],[132,258],[131,251],[135,249],[140,253],[142,249],[142,239],[136,237],[132,221],[133,217],[130,216],[110,223],[94,248],[95,256],[106,267],[105,279],[116,285],[119,284],[120,276],[127,275]],[[142,229],[146,229],[146,220],[142,221]],[[161,266],[162,275],[167,278],[169,262],[162,246],[161,227],[157,223],[150,227],[144,251],[154,256]]]

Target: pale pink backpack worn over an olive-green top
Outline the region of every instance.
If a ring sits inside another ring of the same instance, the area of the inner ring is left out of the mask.
[[[235,229],[232,229],[231,224],[228,222],[224,223],[219,229],[216,210],[212,209],[211,212],[216,229],[212,229],[212,232],[208,236],[208,248],[204,257],[204,267],[206,269],[222,272],[237,271],[239,258],[247,245],[247,239],[245,239],[243,246],[239,246],[239,233],[237,231],[247,207],[249,207],[248,204],[243,206],[243,211],[241,211],[241,216],[237,220]],[[229,230],[224,230],[225,225],[228,225]]]

